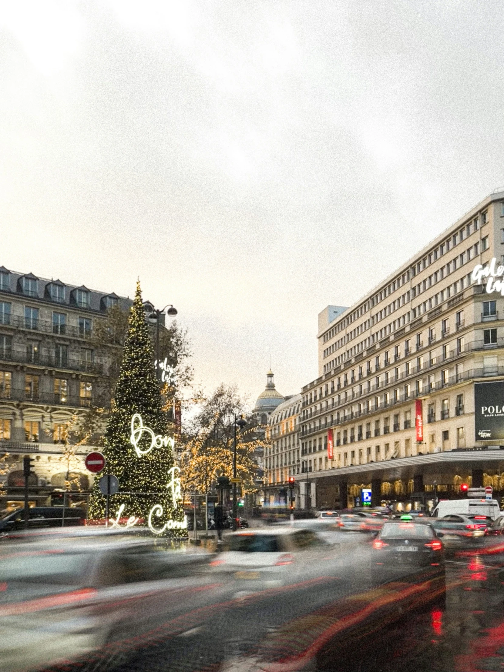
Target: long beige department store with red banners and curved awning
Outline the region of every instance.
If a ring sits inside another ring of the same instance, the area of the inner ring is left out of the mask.
[[[501,264],[500,276],[504,190],[353,306],[321,313],[300,418],[312,504],[353,505],[372,487],[374,504],[429,506],[463,480],[504,491],[504,450],[476,436],[474,416],[475,384],[504,380]]]

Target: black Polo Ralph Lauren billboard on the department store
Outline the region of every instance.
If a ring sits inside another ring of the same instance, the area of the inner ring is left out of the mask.
[[[476,441],[504,439],[504,380],[474,383]]]

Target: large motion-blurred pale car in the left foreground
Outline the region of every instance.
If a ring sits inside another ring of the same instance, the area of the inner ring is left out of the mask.
[[[199,593],[192,597],[195,567],[208,566],[210,554],[88,530],[55,537],[1,547],[0,669],[80,663],[106,645],[124,654],[124,642],[148,640],[181,601],[201,602]]]

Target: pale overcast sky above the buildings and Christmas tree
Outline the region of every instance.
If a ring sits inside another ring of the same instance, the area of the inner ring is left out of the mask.
[[[504,185],[501,2],[0,2],[0,265],[179,310],[207,390],[317,376]]]

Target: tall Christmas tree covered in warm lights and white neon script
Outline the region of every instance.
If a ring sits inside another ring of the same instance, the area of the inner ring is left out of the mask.
[[[101,475],[114,474],[119,479],[118,493],[110,496],[112,525],[122,527],[129,520],[130,525],[147,526],[150,521],[156,534],[186,536],[173,439],[166,433],[167,417],[137,282],[114,404],[103,438],[107,464]],[[97,478],[88,516],[103,519],[105,514],[106,497],[99,491]]]

